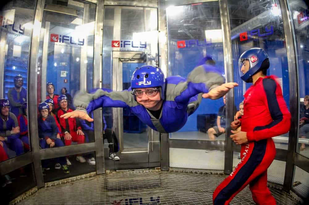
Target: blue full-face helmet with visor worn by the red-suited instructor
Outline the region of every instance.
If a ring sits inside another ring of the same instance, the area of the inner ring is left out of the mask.
[[[243,64],[247,61],[249,69],[247,72],[241,71]],[[261,48],[251,48],[243,52],[239,57],[239,76],[245,82],[252,82],[252,75],[260,70],[269,68],[269,59],[266,52]]]

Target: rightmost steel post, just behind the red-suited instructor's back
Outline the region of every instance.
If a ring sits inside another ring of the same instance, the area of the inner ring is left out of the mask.
[[[296,143],[298,136],[298,116],[299,116],[299,89],[298,89],[298,73],[296,72],[296,61],[295,61],[295,50],[292,36],[292,26],[290,21],[292,19],[289,16],[288,7],[286,1],[279,0],[283,28],[285,30],[285,40],[286,40],[286,52],[288,58],[288,67],[289,67],[289,83],[290,83],[290,113],[292,115],[291,119],[291,128],[289,132],[289,144],[287,150],[287,159],[286,159],[286,170],[284,175],[283,189],[289,191],[293,183],[294,175],[294,155],[296,150]]]

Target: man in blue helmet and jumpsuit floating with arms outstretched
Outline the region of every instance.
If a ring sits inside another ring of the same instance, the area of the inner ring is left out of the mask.
[[[77,110],[62,117],[93,121],[87,112],[99,107],[127,107],[155,131],[176,132],[202,98],[220,98],[238,85],[235,82],[222,84],[224,82],[216,67],[207,64],[197,66],[187,79],[180,76],[165,79],[159,67],[141,66],[133,72],[128,90],[107,92],[99,89],[94,94],[79,93],[74,98]]]

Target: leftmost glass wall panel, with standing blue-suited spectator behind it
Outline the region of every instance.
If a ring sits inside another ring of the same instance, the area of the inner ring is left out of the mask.
[[[5,98],[0,100],[0,110],[1,118],[7,119],[0,121],[0,149],[7,155],[3,160],[31,149],[27,80],[35,10],[32,0],[11,1],[0,10],[0,98]]]

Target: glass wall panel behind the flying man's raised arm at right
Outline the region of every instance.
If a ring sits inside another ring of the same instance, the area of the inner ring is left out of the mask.
[[[177,12],[176,12],[177,10]],[[186,78],[195,67],[215,66],[224,76],[224,59],[220,10],[218,2],[204,2],[167,8],[169,76]],[[218,111],[222,99],[202,99],[188,117],[187,123],[172,138],[224,140],[225,111]],[[222,119],[220,120],[220,118]],[[217,123],[219,119],[219,123]],[[222,121],[222,122],[221,122]],[[224,125],[222,124],[224,123]],[[219,127],[220,130],[216,129]],[[210,131],[209,138],[204,133]],[[218,138],[215,135],[220,136]],[[222,136],[222,137],[221,137]]]

